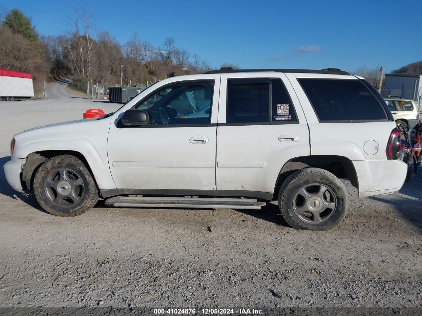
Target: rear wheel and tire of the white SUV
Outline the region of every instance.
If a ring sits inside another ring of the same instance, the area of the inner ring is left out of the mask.
[[[283,182],[278,203],[281,215],[291,227],[324,231],[343,220],[348,197],[346,187],[334,174],[320,168],[305,168]]]

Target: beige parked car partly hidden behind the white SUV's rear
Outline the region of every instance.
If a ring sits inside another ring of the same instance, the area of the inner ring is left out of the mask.
[[[418,105],[414,100],[385,98],[397,125],[412,128],[419,119]]]

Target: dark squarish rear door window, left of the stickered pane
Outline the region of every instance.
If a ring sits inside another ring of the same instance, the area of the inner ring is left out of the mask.
[[[263,123],[270,117],[270,80],[229,79],[227,123]]]

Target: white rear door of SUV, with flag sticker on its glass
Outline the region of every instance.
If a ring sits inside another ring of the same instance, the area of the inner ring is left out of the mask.
[[[285,74],[221,75],[217,190],[271,195],[283,165],[306,155],[307,122]]]

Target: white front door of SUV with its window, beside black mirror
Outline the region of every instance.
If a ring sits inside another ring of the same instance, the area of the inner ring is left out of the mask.
[[[119,189],[215,190],[216,123],[220,78],[161,86],[133,109],[150,123],[112,123],[108,159]]]

